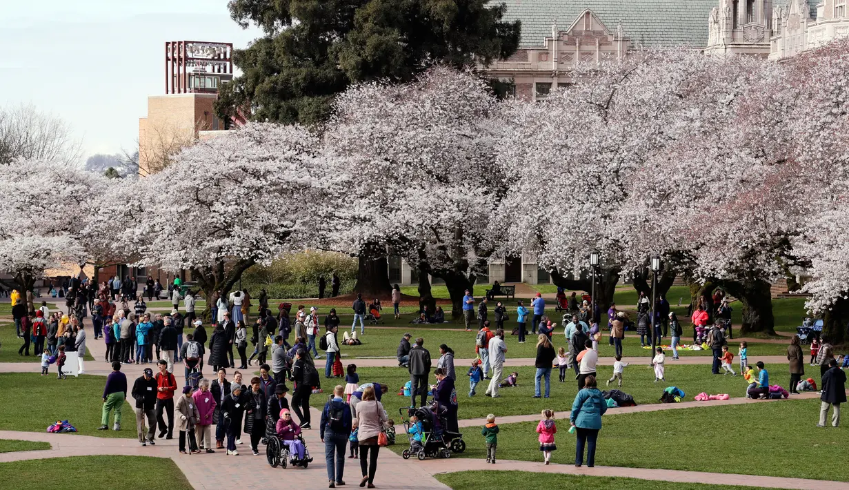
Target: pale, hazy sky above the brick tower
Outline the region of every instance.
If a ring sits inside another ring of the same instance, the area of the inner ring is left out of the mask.
[[[136,149],[149,95],[165,93],[166,41],[233,42],[227,0],[0,0],[0,104],[59,115],[96,153]]]

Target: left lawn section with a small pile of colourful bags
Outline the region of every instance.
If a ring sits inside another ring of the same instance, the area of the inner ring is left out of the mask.
[[[121,431],[98,431],[106,378],[82,375],[57,380],[52,374],[0,374],[0,430],[43,432],[57,420],[68,420],[79,434],[102,437],[135,437],[136,419],[124,403]],[[127,380],[132,386],[132,380]],[[25,401],[23,403],[22,401]],[[112,418],[110,417],[110,426]],[[72,437],[72,435],[68,435]]]

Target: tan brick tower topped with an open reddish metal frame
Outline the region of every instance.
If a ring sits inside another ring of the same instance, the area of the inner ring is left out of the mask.
[[[148,115],[138,120],[138,167],[157,172],[200,132],[223,131],[229,121],[215,115],[218,88],[233,80],[230,42],[165,43],[165,95],[148,97]]]

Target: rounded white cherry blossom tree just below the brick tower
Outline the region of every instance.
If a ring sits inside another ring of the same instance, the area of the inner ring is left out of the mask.
[[[140,266],[188,270],[207,298],[228,295],[247,268],[312,244],[335,192],[318,139],[301,127],[250,124],[183,149],[171,166],[114,192],[134,194],[118,213],[116,252]],[[319,230],[320,231],[320,230]],[[207,308],[210,305],[207,304]]]

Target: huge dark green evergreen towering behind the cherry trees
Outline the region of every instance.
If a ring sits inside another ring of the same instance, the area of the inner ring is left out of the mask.
[[[222,87],[228,121],[312,125],[352,82],[412,80],[435,63],[456,67],[506,58],[519,21],[486,0],[233,0],[233,20],[265,35],[237,49],[242,75]]]

